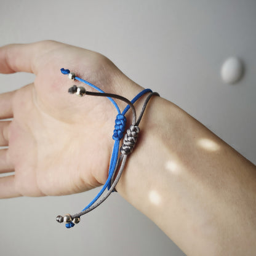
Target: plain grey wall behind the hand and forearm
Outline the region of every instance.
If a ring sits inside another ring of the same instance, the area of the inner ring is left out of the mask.
[[[98,51],[254,164],[255,28],[255,0],[0,0],[0,45],[54,39]],[[227,85],[220,67],[231,55],[243,60],[246,71],[240,82]],[[33,79],[0,74],[0,92]],[[96,192],[1,200],[0,254],[184,255],[118,193],[73,230],[55,222],[55,215],[80,210]]]

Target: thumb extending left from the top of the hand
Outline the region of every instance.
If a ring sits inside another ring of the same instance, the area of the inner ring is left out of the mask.
[[[41,41],[32,44],[9,44],[0,47],[0,73],[28,72],[36,74],[38,56],[60,43]]]

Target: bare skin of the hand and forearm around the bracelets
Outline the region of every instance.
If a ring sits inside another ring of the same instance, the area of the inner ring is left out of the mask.
[[[0,72],[36,74],[0,95],[0,198],[79,193],[105,183],[116,110],[78,98],[68,68],[106,92],[143,88],[103,55],[54,41],[0,48]],[[140,109],[143,100],[136,108]],[[118,102],[121,109],[126,106]],[[127,116],[130,121],[130,114]],[[116,189],[187,255],[254,255],[256,168],[182,109],[151,99]]]

